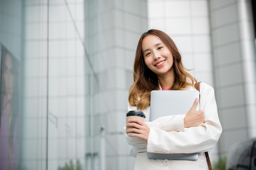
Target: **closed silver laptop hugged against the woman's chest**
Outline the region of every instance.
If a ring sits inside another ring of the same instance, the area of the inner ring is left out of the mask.
[[[186,114],[193,106],[199,91],[151,91],[150,121],[168,115]],[[196,108],[199,110],[199,104]],[[198,159],[198,153],[162,154],[148,152],[149,159],[191,160]]]

